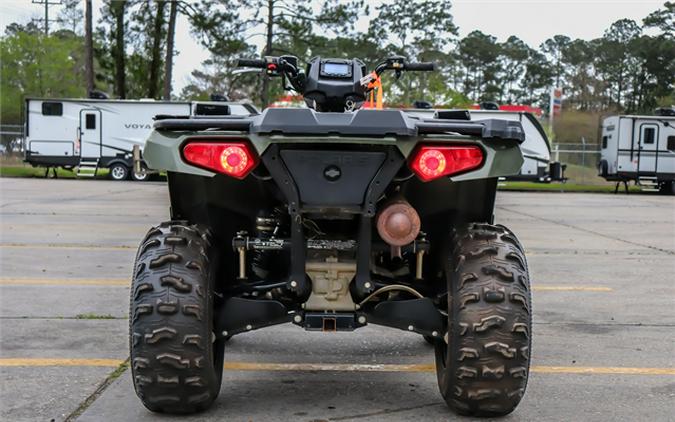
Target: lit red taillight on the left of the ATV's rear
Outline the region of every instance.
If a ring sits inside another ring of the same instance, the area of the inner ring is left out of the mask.
[[[183,147],[185,161],[237,179],[243,179],[258,164],[245,142],[190,142]]]

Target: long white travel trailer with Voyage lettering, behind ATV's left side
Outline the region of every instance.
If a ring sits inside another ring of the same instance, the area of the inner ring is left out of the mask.
[[[146,178],[135,173],[133,149],[143,150],[156,115],[249,115],[250,104],[154,100],[27,98],[25,161],[35,167],[78,169],[91,176],[100,168],[110,177]]]

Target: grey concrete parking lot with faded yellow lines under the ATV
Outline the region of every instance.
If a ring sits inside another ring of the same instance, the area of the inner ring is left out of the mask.
[[[124,365],[133,258],[166,186],[0,179],[0,195],[0,419],[169,419]],[[673,420],[675,198],[499,192],[495,220],[526,248],[534,304],[527,393],[502,420]],[[215,405],[181,420],[466,419],[432,365],[407,332],[271,327],[228,343]]]

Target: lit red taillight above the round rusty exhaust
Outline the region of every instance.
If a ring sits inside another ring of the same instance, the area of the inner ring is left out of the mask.
[[[423,182],[480,167],[483,150],[474,145],[422,145],[412,155],[410,168]]]

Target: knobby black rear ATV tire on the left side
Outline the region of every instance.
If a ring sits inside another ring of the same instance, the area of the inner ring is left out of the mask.
[[[129,315],[136,394],[153,412],[194,413],[220,391],[224,341],[213,341],[214,248],[184,222],[152,228],[134,265]]]

